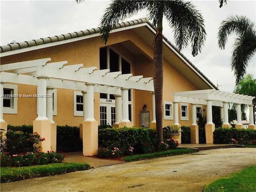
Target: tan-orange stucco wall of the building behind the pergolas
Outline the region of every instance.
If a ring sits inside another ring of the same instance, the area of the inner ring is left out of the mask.
[[[122,46],[122,42],[131,41],[138,52],[142,54],[133,54],[130,50]],[[119,44],[118,44],[119,43]],[[125,58],[132,62],[132,73],[134,75],[143,75],[144,77],[153,76],[153,49],[150,44],[144,42],[132,30],[125,30],[110,34],[108,45],[120,52]],[[68,64],[80,64],[84,66],[97,66],[99,69],[99,50],[105,46],[100,37],[80,40],[77,42],[62,44],[58,46],[33,50],[12,56],[1,58],[1,65],[20,62],[26,60],[35,60],[39,58],[51,58],[51,62],[66,60]],[[177,61],[177,58],[174,60]],[[172,101],[172,92],[183,90],[197,90],[198,88],[182,76],[171,63],[164,60],[164,87],[163,100]],[[78,126],[82,122],[82,117],[73,114],[73,91],[66,89],[58,89],[57,92],[57,116],[53,116],[53,120],[58,125]],[[150,110],[150,119],[152,120],[152,95],[150,92],[133,90],[133,120],[134,126],[140,126],[140,111],[142,106],[146,104],[146,110]],[[28,86],[18,84],[18,94],[36,94],[36,86]],[[100,123],[100,100],[99,94],[94,94],[94,118]],[[180,106],[179,106],[180,109]],[[191,112],[191,106],[189,106]],[[179,110],[180,113],[180,110]],[[179,114],[180,115],[180,114]],[[36,115],[36,98],[18,98],[18,114],[4,114],[4,120],[12,125],[32,124]],[[172,120],[164,120],[163,125],[172,124]],[[189,121],[180,121],[182,125],[191,124],[191,113]]]

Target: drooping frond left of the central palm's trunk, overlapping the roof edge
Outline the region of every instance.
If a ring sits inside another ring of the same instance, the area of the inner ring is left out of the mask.
[[[106,8],[100,22],[100,34],[105,44],[108,41],[108,35],[113,25],[136,14],[144,9],[147,4],[147,1],[113,0]]]

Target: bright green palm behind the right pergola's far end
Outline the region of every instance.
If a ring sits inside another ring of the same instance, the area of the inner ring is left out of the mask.
[[[237,85],[235,88],[235,93],[250,95],[256,97],[256,79],[253,78],[252,74],[247,74]],[[256,98],[252,100],[253,104],[253,118],[255,122],[255,106],[256,106]]]

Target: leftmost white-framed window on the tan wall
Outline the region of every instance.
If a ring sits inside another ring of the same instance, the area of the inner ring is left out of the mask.
[[[4,84],[3,113],[17,114],[18,85]]]

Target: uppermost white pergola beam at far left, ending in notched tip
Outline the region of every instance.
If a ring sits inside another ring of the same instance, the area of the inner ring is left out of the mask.
[[[23,69],[23,68],[31,68],[31,67],[36,67],[36,66],[44,66],[49,61],[51,61],[51,58],[3,64],[0,66],[0,71],[9,71],[9,70],[16,70],[16,69]]]

